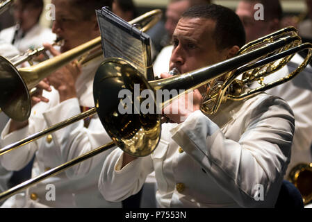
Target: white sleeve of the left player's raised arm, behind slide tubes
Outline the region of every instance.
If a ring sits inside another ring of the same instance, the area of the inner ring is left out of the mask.
[[[60,114],[61,113],[61,114]],[[80,106],[78,99],[68,99],[62,103],[44,112],[44,120],[48,126],[53,126],[60,121],[74,117],[80,114]],[[90,120],[88,128],[84,126],[84,121],[76,121],[69,126],[57,130],[53,133],[53,139],[56,148],[63,162],[68,162],[76,157],[88,153],[93,149],[111,141],[107,135],[97,114]],[[85,160],[66,171],[69,178],[80,178],[94,169],[99,162],[103,162],[106,155],[110,151],[104,151],[95,157]]]

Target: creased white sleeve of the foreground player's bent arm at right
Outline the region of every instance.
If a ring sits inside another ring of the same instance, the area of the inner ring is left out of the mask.
[[[172,139],[238,205],[272,207],[290,158],[293,112],[287,103],[274,99],[272,104],[258,103],[246,114],[238,142],[225,138],[199,110],[171,130]],[[257,185],[263,185],[263,201],[256,201]]]

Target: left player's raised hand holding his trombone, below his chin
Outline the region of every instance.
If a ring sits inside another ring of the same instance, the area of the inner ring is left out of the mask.
[[[51,44],[44,44],[53,56],[60,55]],[[75,60],[65,67],[58,69],[54,74],[47,77],[49,83],[54,86],[60,94],[60,102],[76,97],[76,80],[81,74],[81,65]]]

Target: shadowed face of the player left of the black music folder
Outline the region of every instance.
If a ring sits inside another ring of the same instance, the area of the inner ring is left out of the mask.
[[[99,36],[97,19],[84,19],[82,12],[67,0],[52,0],[56,6],[56,20],[52,31],[65,40],[60,51],[68,51]]]

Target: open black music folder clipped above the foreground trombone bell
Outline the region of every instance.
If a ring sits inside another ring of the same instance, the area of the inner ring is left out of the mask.
[[[96,10],[105,58],[124,58],[136,65],[147,80],[154,80],[149,35],[110,12],[108,7]]]

